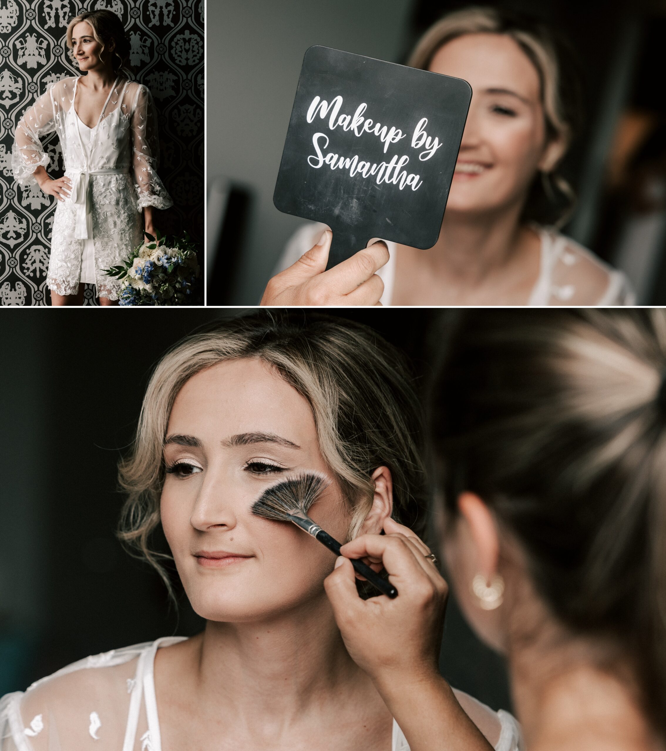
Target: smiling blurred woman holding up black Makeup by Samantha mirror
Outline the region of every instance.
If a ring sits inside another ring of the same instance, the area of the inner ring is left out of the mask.
[[[325,271],[331,232],[286,246],[266,305],[627,305],[625,276],[562,235],[572,192],[558,165],[580,103],[545,26],[491,8],[449,14],[408,65],[463,78],[473,95],[440,237],[375,243]]]

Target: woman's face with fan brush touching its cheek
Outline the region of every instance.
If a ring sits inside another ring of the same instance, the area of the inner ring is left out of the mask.
[[[252,514],[286,477],[331,473],[307,400],[259,359],[194,375],[169,417],[162,526],[194,610],[208,620],[273,617],[323,594],[335,556],[286,522]],[[344,538],[350,512],[331,482],[310,515]]]

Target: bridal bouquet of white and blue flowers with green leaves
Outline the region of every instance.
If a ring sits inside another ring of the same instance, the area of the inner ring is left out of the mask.
[[[201,269],[189,234],[146,237],[127,261],[105,272],[123,280],[120,305],[201,305]]]

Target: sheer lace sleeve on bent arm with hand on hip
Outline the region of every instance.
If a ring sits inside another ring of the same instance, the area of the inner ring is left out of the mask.
[[[49,155],[44,151],[40,138],[56,130],[56,114],[53,106],[53,86],[32,105],[17,125],[12,149],[12,170],[19,185],[35,182],[32,174],[37,167],[48,167]]]

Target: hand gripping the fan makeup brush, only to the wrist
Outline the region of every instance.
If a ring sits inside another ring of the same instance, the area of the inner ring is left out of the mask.
[[[428,558],[430,550],[392,519],[385,535],[362,535],[344,544],[324,580],[347,651],[378,688],[395,681],[439,677],[438,659],[449,587]],[[382,562],[398,590],[362,600],[349,558]],[[380,689],[381,690],[381,689]]]

